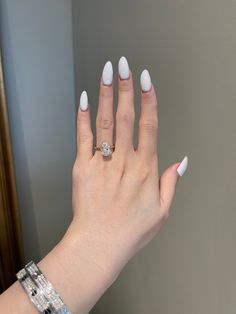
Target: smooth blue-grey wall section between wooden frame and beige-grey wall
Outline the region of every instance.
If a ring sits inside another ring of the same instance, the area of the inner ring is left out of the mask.
[[[71,218],[71,2],[1,0],[0,12],[26,260],[37,260],[59,241]]]

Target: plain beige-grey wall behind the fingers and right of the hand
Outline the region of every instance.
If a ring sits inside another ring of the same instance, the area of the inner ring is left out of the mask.
[[[93,313],[234,314],[236,1],[73,2],[77,93],[88,91],[93,126],[103,64],[117,73],[125,55],[137,90],[144,67],[159,89],[161,170],[190,159],[167,225]]]

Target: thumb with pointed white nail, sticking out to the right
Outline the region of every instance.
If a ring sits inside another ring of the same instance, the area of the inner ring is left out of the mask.
[[[169,210],[179,177],[185,173],[188,166],[188,157],[185,156],[181,163],[175,163],[167,168],[160,177],[160,202],[165,210]]]

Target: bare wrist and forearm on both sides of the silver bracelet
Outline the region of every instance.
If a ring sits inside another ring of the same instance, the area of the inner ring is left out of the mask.
[[[103,243],[70,231],[37,264],[73,314],[88,313],[122,269]],[[33,314],[37,310],[15,282],[0,296],[0,312]]]

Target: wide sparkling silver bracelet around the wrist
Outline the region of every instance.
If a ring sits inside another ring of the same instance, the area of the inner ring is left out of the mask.
[[[33,261],[20,270],[16,277],[39,313],[71,314],[52,284]]]

